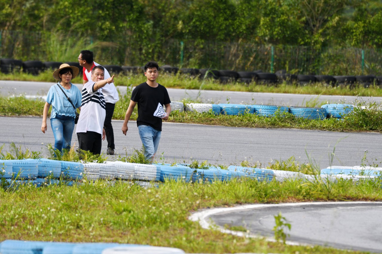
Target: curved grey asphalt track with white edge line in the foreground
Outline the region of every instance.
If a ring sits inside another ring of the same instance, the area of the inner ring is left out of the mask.
[[[279,212],[291,224],[291,231],[284,230],[290,234],[288,241],[382,252],[382,202],[254,204],[207,209],[191,219],[205,228],[212,220],[221,228],[241,226],[252,236],[273,237],[274,215]]]

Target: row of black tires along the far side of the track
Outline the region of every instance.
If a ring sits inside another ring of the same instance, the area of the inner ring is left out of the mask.
[[[67,62],[71,66],[76,66],[79,69],[82,67],[78,62]],[[23,71],[33,75],[38,75],[41,71],[47,69],[58,69],[61,62],[42,62],[42,61],[20,61],[15,59],[0,59],[0,71],[10,73],[15,70]],[[119,73],[134,73],[141,74],[144,72],[144,67],[140,66],[118,66],[104,65],[111,74]],[[298,82],[299,84],[309,84],[322,82],[330,85],[350,85],[362,84],[364,87],[370,85],[382,85],[382,76],[366,75],[366,76],[330,76],[330,75],[295,75],[288,74],[285,70],[280,70],[275,73],[267,73],[261,70],[257,71],[229,71],[229,70],[212,70],[212,69],[195,69],[195,68],[177,68],[173,66],[160,66],[162,72],[171,74],[185,74],[191,77],[212,78],[220,80],[222,83],[238,81],[249,84],[251,82],[276,84],[278,82]],[[82,75],[82,72],[79,73]]]

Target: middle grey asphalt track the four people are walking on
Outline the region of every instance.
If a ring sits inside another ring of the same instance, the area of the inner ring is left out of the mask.
[[[47,143],[54,143],[48,119],[48,130],[41,132],[41,117],[0,117],[0,144],[8,150],[10,142],[45,154]],[[121,131],[122,121],[112,121],[116,152],[131,154],[142,146],[136,122],[129,121],[127,136]],[[73,133],[72,145],[78,143]],[[338,144],[336,145],[336,143]],[[248,160],[267,166],[272,160],[295,156],[298,162],[311,160],[322,168],[330,166],[329,153],[335,148],[332,165],[360,165],[367,150],[367,163],[380,163],[380,133],[344,133],[297,129],[262,129],[163,123],[157,160],[161,154],[167,161],[190,162],[207,160],[211,164],[233,164]],[[102,142],[106,153],[107,142]],[[127,150],[124,150],[124,149]]]

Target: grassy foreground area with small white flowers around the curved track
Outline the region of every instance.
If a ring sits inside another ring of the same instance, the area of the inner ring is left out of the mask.
[[[377,201],[382,198],[380,184],[380,180],[355,185],[351,180],[327,184],[245,179],[212,184],[170,181],[149,189],[118,181],[0,188],[0,241],[136,243],[189,253],[358,253],[225,235],[202,229],[187,218],[200,209],[246,203]]]

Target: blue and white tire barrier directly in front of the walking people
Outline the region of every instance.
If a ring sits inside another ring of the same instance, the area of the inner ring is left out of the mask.
[[[29,183],[36,186],[58,184],[60,175],[69,180],[82,180],[86,177],[88,181],[98,179],[106,180],[138,180],[141,186],[153,186],[155,182],[166,182],[175,180],[181,182],[212,183],[225,182],[241,177],[249,177],[259,182],[279,182],[287,179],[304,179],[310,182],[316,181],[317,176],[290,172],[284,170],[261,169],[252,167],[229,166],[228,169],[220,167],[191,168],[189,164],[136,164],[128,162],[106,162],[106,163],[80,163],[55,161],[49,159],[26,159],[26,160],[1,160],[0,170],[2,177],[9,182],[16,174],[21,180],[16,183]],[[351,178],[359,180],[365,177],[380,176],[382,168],[360,168],[360,167],[330,167],[321,170],[321,175],[330,177],[330,181],[338,181],[338,178]],[[49,177],[49,178],[48,178]],[[150,182],[148,182],[150,181]],[[74,183],[70,181],[69,185]],[[154,184],[155,186],[155,184]]]

